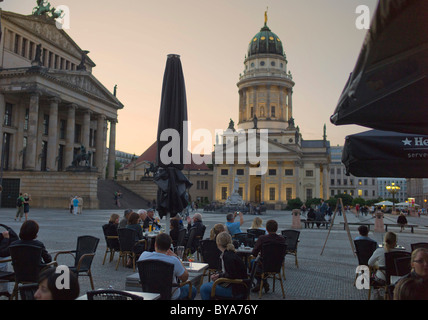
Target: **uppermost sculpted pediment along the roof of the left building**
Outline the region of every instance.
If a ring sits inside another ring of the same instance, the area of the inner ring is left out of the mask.
[[[82,49],[73,41],[73,39],[62,29],[58,29],[55,20],[44,16],[21,15],[13,12],[3,11],[1,19],[8,20],[13,24],[34,34],[35,38],[46,41],[47,43],[58,47],[59,49],[73,55],[77,59],[82,57]],[[42,42],[42,41],[41,41]],[[44,47],[42,43],[42,47]],[[87,63],[95,67],[95,63],[87,57]]]

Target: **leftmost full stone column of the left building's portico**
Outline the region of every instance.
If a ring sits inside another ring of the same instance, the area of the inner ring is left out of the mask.
[[[27,150],[25,154],[25,169],[36,169],[37,129],[39,121],[39,92],[30,95],[30,107],[28,115]]]

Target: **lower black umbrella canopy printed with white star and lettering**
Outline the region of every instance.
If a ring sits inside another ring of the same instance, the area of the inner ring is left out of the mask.
[[[428,178],[428,136],[380,130],[349,135],[342,163],[356,177]]]

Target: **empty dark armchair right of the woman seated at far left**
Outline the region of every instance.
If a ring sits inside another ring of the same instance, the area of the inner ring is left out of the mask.
[[[93,236],[80,236],[77,238],[76,250],[60,251],[55,255],[55,261],[58,261],[58,256],[70,254],[74,257],[74,265],[69,266],[70,271],[74,272],[78,277],[89,277],[91,288],[94,290],[94,281],[92,278],[91,266],[95,257],[95,252],[100,239]]]

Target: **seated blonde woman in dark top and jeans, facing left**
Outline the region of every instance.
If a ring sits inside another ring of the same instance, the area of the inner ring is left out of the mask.
[[[242,258],[235,252],[232,237],[228,232],[221,232],[216,237],[216,243],[221,253],[223,270],[221,273],[211,276],[211,282],[201,286],[200,293],[202,300],[209,300],[214,281],[219,278],[248,279],[247,268]],[[245,298],[245,287],[239,284],[223,283],[216,286],[216,296],[225,298]]]

